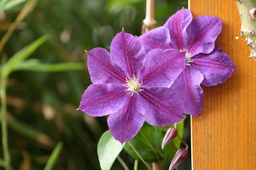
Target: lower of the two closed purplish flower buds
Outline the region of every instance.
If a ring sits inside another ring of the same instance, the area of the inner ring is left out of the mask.
[[[181,162],[183,162],[187,158],[188,158],[188,150],[185,148],[180,148],[176,152],[174,158],[172,159],[172,163],[169,167],[169,170],[176,168],[178,165],[180,165]]]

